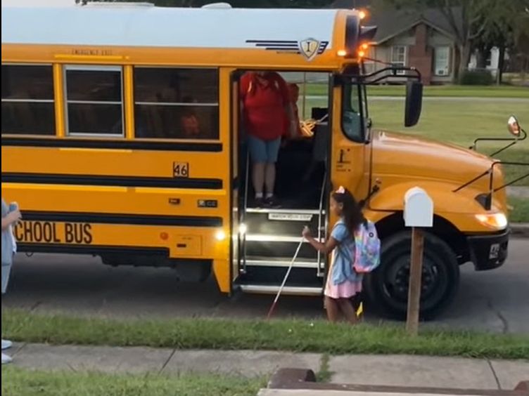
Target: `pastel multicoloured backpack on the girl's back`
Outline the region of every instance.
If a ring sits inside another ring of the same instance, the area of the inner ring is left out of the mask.
[[[355,232],[355,263],[352,267],[360,274],[375,270],[380,265],[380,250],[381,241],[376,227],[367,220]]]

